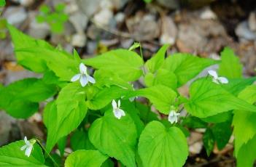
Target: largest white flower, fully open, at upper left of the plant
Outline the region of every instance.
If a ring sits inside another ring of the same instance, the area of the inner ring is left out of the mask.
[[[81,83],[82,87],[86,86],[88,81],[90,83],[95,83],[96,82],[93,77],[88,75],[87,68],[84,64],[82,64],[82,62],[79,65],[79,70],[80,70],[80,73],[74,75],[71,78],[71,82],[75,82],[75,81],[80,80],[80,83]]]

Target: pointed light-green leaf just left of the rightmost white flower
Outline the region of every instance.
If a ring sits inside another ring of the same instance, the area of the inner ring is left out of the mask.
[[[178,86],[182,86],[204,68],[216,63],[215,60],[195,57],[192,54],[177,53],[166,58],[163,68],[173,72],[178,78]]]

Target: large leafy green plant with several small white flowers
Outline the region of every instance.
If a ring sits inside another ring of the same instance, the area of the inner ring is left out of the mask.
[[[0,165],[61,166],[52,150],[57,144],[65,159],[63,150],[70,137],[74,152],[65,166],[183,166],[188,156],[187,129],[203,128],[208,155],[215,143],[220,150],[225,147],[233,133],[237,165],[252,166],[256,78],[242,77],[242,66],[228,47],[221,61],[182,53],[166,57],[168,45],[164,45],[144,62],[133,52],[141,49],[137,43],[129,50],[80,59],[75,51],[69,54],[11,25],[8,28],[18,63],[43,77],[1,86],[0,108],[15,118],[28,118],[39,102],[48,99],[43,113],[47,140],[45,148],[36,138],[1,147]],[[179,94],[181,86],[215,64],[218,73],[209,70],[195,79],[189,97]],[[132,82],[139,78],[145,87],[134,89]],[[147,104],[137,98],[146,98]],[[179,114],[183,107],[186,116]]]

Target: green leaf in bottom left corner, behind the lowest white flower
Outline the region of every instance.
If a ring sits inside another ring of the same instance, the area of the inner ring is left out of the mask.
[[[34,144],[31,155],[27,157],[25,150],[20,150],[25,142],[20,140],[0,147],[0,166],[44,166],[44,155],[41,147]]]

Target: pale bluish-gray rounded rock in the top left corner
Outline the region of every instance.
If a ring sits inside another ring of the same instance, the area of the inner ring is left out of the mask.
[[[4,17],[9,24],[18,27],[26,20],[28,14],[23,7],[7,7]]]

